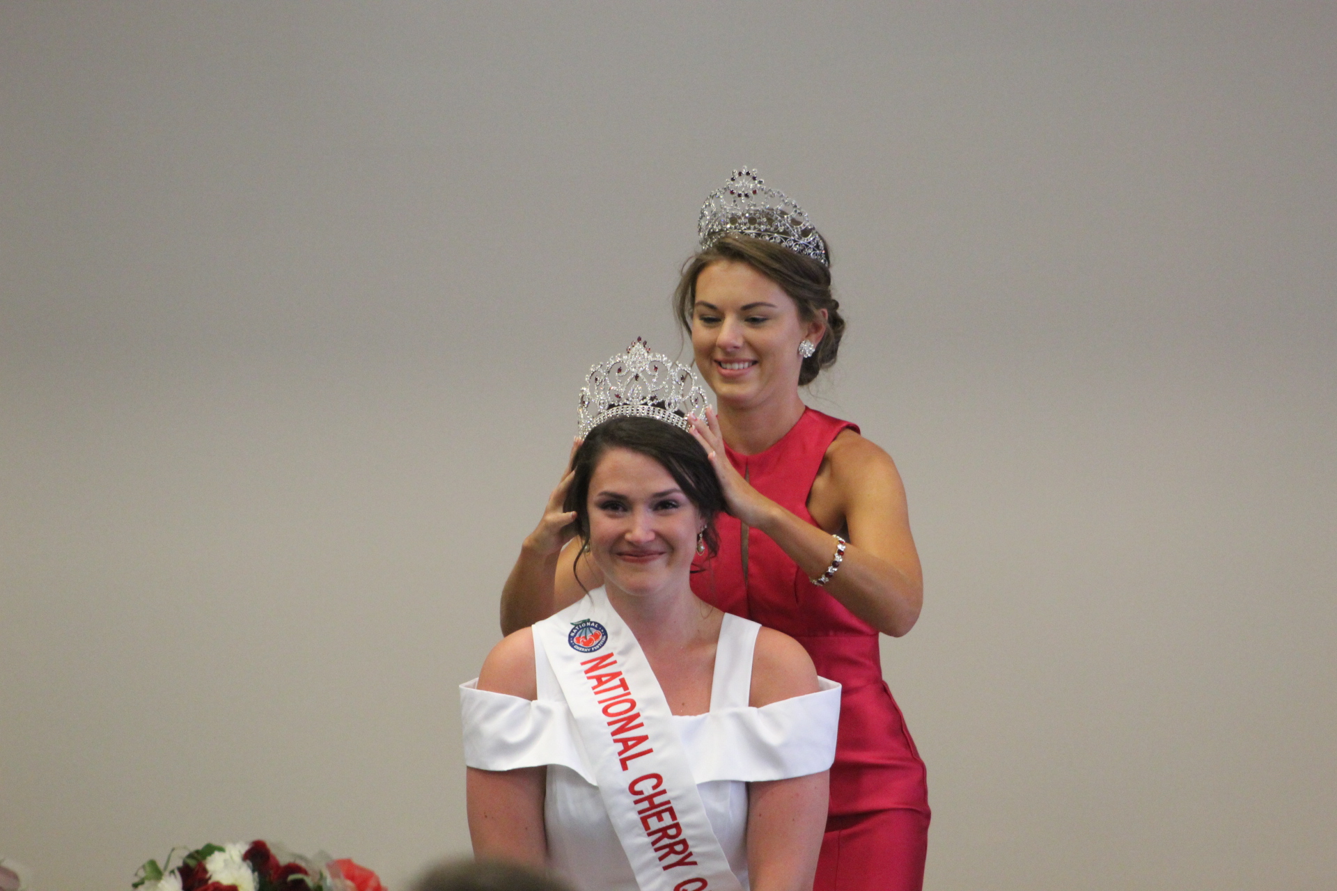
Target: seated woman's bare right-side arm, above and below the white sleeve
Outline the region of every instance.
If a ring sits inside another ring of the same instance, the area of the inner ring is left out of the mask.
[[[751,704],[817,692],[813,660],[792,637],[763,628],[753,656]],[[826,827],[828,771],[747,784],[747,872],[754,891],[813,887]]]

